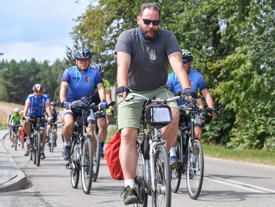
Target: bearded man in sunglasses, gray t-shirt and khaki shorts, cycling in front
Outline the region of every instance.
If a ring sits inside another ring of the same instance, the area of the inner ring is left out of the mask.
[[[160,8],[151,3],[142,5],[136,17],[139,27],[124,31],[118,38],[117,95],[118,127],[121,132],[119,158],[125,180],[124,204],[137,201],[134,189],[134,175],[137,163],[136,137],[140,128],[143,100],[123,101],[133,92],[148,98],[169,99],[174,94],[168,90],[168,61],[177,74],[184,92],[190,100],[197,94],[190,89],[188,75],[183,69],[180,47],[172,32],[159,28]],[[162,129],[163,139],[170,150],[178,132],[179,113],[177,104],[169,102],[172,110],[172,123]],[[165,133],[164,133],[165,132]]]

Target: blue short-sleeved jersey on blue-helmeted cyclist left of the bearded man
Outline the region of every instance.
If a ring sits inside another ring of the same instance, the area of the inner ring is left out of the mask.
[[[103,83],[99,71],[89,67],[83,74],[73,66],[67,68],[62,76],[62,81],[69,83],[67,101],[70,103],[85,103],[94,93],[94,85]]]

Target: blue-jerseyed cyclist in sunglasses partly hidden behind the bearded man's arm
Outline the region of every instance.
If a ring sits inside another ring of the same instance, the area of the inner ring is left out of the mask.
[[[206,82],[205,82],[203,76],[198,71],[190,69],[191,67],[193,67],[193,56],[192,56],[191,52],[189,50],[181,50],[181,52],[182,52],[183,66],[184,66],[184,69],[186,70],[186,72],[188,73],[188,78],[189,78],[189,81],[191,84],[191,89],[193,91],[195,91],[196,93],[198,93],[198,91],[200,90],[200,92],[203,94],[203,96],[206,100],[208,107],[214,108],[214,102],[213,102],[212,96],[211,96],[210,92],[208,91],[208,87],[206,85]],[[176,76],[176,74],[174,72],[172,72],[168,75],[167,84],[169,85],[169,90],[171,92],[173,92],[174,94],[176,92],[183,91],[182,87],[180,85],[180,82],[178,80],[178,77]],[[185,102],[183,102],[183,100],[177,100],[177,102],[178,102],[179,106],[182,106],[184,108],[188,108],[191,106],[190,103],[185,103]],[[196,105],[196,100],[193,101],[193,104]],[[202,104],[200,104],[200,107],[203,109]],[[186,114],[181,114],[181,115],[184,117],[185,123],[189,124],[190,116],[186,115]],[[209,115],[215,116],[217,114],[212,112]],[[196,119],[195,119],[195,137],[198,138],[199,140],[201,140],[201,138],[202,138],[201,122],[202,123],[204,122],[204,116],[199,117],[199,115],[197,115]],[[173,144],[173,146],[171,147],[171,150],[170,150],[170,164],[171,165],[177,163],[175,147],[176,147],[176,142]]]

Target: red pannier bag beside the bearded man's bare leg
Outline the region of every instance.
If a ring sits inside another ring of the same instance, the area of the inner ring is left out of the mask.
[[[116,180],[124,180],[123,172],[119,161],[119,149],[120,149],[121,137],[117,132],[115,136],[106,145],[104,154],[111,177]]]

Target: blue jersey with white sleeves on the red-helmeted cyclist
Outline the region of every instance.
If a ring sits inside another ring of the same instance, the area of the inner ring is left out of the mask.
[[[37,117],[41,117],[45,112],[45,104],[49,103],[49,98],[46,94],[42,94],[40,98],[36,98],[34,94],[30,94],[26,102],[31,103],[29,113]]]

